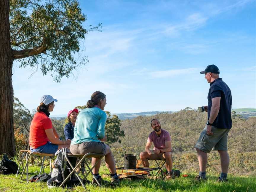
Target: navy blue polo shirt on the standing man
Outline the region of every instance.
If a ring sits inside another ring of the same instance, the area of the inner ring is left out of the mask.
[[[212,125],[219,129],[231,129],[232,95],[231,90],[229,89],[228,85],[222,81],[222,78],[215,79],[212,81],[212,83],[210,83],[210,89],[208,93],[208,120],[211,113],[212,98],[215,97],[221,97],[220,111]]]

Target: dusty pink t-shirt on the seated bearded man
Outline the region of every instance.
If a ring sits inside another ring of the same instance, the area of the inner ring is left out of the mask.
[[[164,149],[165,142],[167,141],[171,141],[171,137],[170,134],[164,129],[161,129],[160,137],[156,135],[155,131],[152,131],[148,136],[148,142],[153,142],[155,147],[158,149]]]

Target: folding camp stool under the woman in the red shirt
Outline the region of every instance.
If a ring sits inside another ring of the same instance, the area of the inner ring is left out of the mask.
[[[25,164],[25,167],[23,168],[22,174],[21,174],[21,176],[20,176],[20,179],[22,180],[23,173],[25,172],[25,168],[26,168],[27,183],[28,183],[28,161],[29,161],[29,158],[30,158],[32,155],[35,155],[35,156],[39,156],[39,157],[40,157],[41,168],[40,168],[39,175],[41,174],[41,171],[43,171],[43,173],[44,173],[44,160],[45,160],[46,157],[49,157],[49,158],[50,158],[50,174],[52,173],[52,166],[51,166],[51,164],[52,164],[52,157],[55,156],[55,154],[48,154],[48,153],[39,153],[39,152],[28,151],[28,152],[26,153],[26,164]],[[43,160],[42,160],[42,157],[43,157]]]

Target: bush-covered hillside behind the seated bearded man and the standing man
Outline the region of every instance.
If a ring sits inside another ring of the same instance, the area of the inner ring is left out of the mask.
[[[207,113],[196,110],[181,110],[171,114],[139,116],[122,121],[121,130],[125,137],[121,143],[111,144],[118,165],[123,165],[124,154],[139,154],[144,151],[149,133],[152,131],[150,120],[158,118],[162,129],[172,138],[173,165],[182,171],[198,171],[198,161],[194,145],[207,121]],[[256,175],[256,118],[233,119],[233,127],[228,134],[230,154],[229,172],[238,175]],[[152,146],[153,148],[153,146]],[[220,172],[220,158],[216,151],[209,153],[208,170]],[[151,162],[152,165],[153,162]]]

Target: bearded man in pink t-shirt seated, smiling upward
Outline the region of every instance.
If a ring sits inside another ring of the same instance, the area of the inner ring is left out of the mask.
[[[152,131],[148,136],[145,151],[140,153],[140,159],[144,167],[149,167],[148,160],[166,160],[167,178],[174,177],[172,172],[172,147],[170,134],[161,129],[161,124],[158,119],[151,120]],[[153,153],[150,147],[154,143]]]

